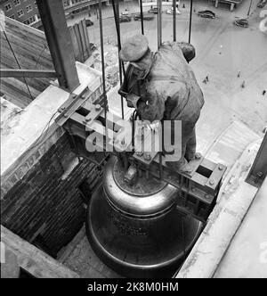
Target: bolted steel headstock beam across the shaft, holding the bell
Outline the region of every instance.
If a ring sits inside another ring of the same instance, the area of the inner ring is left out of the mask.
[[[107,144],[112,144],[113,147],[115,146],[116,152],[110,151],[113,154],[125,152],[125,148],[128,147],[128,144],[125,143],[124,145],[114,141],[118,130],[124,127],[123,124],[119,123],[123,119],[107,111],[105,120],[101,106],[94,105],[88,101],[77,103],[77,105],[80,106],[79,110],[73,111],[74,105],[72,105],[69,111],[64,113],[67,114],[65,115],[66,117],[60,120],[61,123],[65,122],[65,127],[71,127],[71,132],[80,139],[79,142],[84,141],[83,147],[79,148],[81,149],[81,154],[95,162],[95,154],[99,152],[87,152],[85,149],[85,141],[93,141],[93,137],[92,139],[90,137],[92,133],[96,133],[104,140],[97,146],[97,150],[101,150],[103,154],[107,152]],[[71,112],[72,114],[70,114]],[[158,136],[154,135],[152,138],[154,141],[157,141]],[[137,144],[141,145],[141,147],[145,141],[149,141],[149,139],[143,140],[142,137],[137,134],[134,135],[134,139],[135,141],[139,141]],[[153,144],[154,143],[151,143],[151,146]],[[132,145],[132,143],[129,145]],[[132,152],[131,149],[130,152]],[[132,152],[127,154],[127,159],[129,163],[136,165],[139,171],[144,171],[146,177],[160,178],[166,183],[174,185],[174,187],[179,189],[177,209],[201,221],[206,221],[211,210],[213,210],[222,183],[223,174],[226,170],[223,164],[217,164],[200,157],[190,161],[190,166],[193,168],[190,174],[182,174],[169,169],[166,166],[163,156],[162,161],[160,161],[158,152],[152,152],[149,156],[143,152]],[[161,163],[161,166],[159,166],[159,163]],[[134,173],[132,170],[129,172],[131,174],[127,177],[127,180],[129,179],[131,182]]]

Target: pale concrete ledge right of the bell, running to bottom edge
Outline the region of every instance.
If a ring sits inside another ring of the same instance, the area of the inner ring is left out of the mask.
[[[221,196],[218,197],[220,202],[214,207],[198,242],[176,275],[177,278],[214,276],[257,192],[257,188],[247,184],[245,179],[259,144],[260,141],[257,141],[243,152],[225,178]]]

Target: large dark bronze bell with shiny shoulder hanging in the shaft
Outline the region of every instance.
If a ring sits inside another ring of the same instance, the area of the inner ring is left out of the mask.
[[[154,177],[128,185],[125,169],[112,157],[88,206],[86,232],[93,251],[120,275],[174,275],[202,227],[176,210],[177,193]]]

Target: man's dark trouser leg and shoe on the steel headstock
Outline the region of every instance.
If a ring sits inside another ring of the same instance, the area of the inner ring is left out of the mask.
[[[195,125],[182,121],[182,151],[181,158],[177,161],[166,161],[166,165],[175,171],[188,172],[188,161],[193,160],[196,154],[196,130]]]

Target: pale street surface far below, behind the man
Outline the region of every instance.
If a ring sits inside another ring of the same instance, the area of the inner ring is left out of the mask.
[[[198,121],[198,150],[206,152],[215,138],[231,124],[239,120],[263,136],[267,127],[267,33],[259,29],[260,9],[256,1],[252,5],[249,28],[233,25],[237,17],[247,16],[250,1],[245,0],[234,12],[215,9],[211,4],[195,4],[192,18],[191,43],[196,47],[197,57],[190,64],[205,95],[206,103]],[[134,5],[134,4],[132,4]],[[131,6],[130,12],[138,8]],[[109,7],[110,9],[110,7]],[[198,17],[197,12],[210,9],[216,13],[214,20]],[[177,40],[188,40],[189,4],[177,15]],[[103,12],[104,40],[117,44],[115,22],[111,12]],[[80,16],[81,18],[81,16]],[[91,18],[92,19],[92,18]],[[99,24],[88,27],[91,42],[99,45]],[[72,20],[73,22],[73,20]],[[121,40],[141,32],[140,21],[120,24]],[[163,41],[172,40],[172,15],[162,15]],[[152,50],[157,50],[157,15],[153,21],[144,21],[145,35]],[[240,71],[240,77],[237,77]],[[202,83],[208,75],[209,82]],[[245,81],[245,88],[241,87]],[[120,99],[117,97],[119,107]]]

